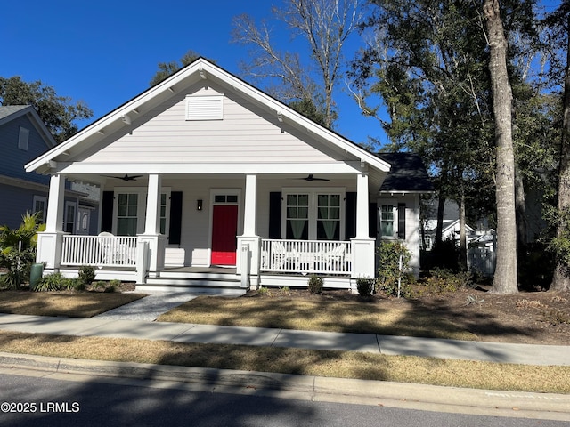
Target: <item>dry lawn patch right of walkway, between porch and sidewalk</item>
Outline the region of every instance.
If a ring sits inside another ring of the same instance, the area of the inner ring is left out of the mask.
[[[476,340],[452,322],[411,305],[387,310],[382,302],[306,298],[224,298],[200,296],[159,316],[161,322],[222,326],[387,334]]]

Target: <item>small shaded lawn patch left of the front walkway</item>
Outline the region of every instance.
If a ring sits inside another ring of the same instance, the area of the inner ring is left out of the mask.
[[[25,292],[0,293],[0,312],[36,316],[92,318],[142,298],[144,294],[102,292]]]

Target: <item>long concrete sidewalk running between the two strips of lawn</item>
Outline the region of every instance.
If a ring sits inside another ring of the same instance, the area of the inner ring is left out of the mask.
[[[260,327],[195,325],[126,320],[115,316],[49,318],[0,313],[0,329],[32,334],[243,344],[313,350],[346,350],[384,355],[570,366],[570,347],[558,345],[473,342],[377,334],[341,334]]]

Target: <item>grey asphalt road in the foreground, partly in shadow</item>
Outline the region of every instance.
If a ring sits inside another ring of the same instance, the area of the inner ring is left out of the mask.
[[[188,384],[0,375],[0,425],[562,427],[566,422],[191,390]],[[365,403],[365,402],[363,402]]]

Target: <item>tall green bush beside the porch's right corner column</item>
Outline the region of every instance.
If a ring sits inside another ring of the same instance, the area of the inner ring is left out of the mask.
[[[411,252],[408,251],[403,242],[381,242],[378,248],[379,269],[378,288],[387,295],[398,294],[398,282],[400,290],[409,287],[406,282],[407,271],[411,259]],[[400,269],[400,257],[402,257],[402,269]],[[406,291],[407,294],[407,291]]]

